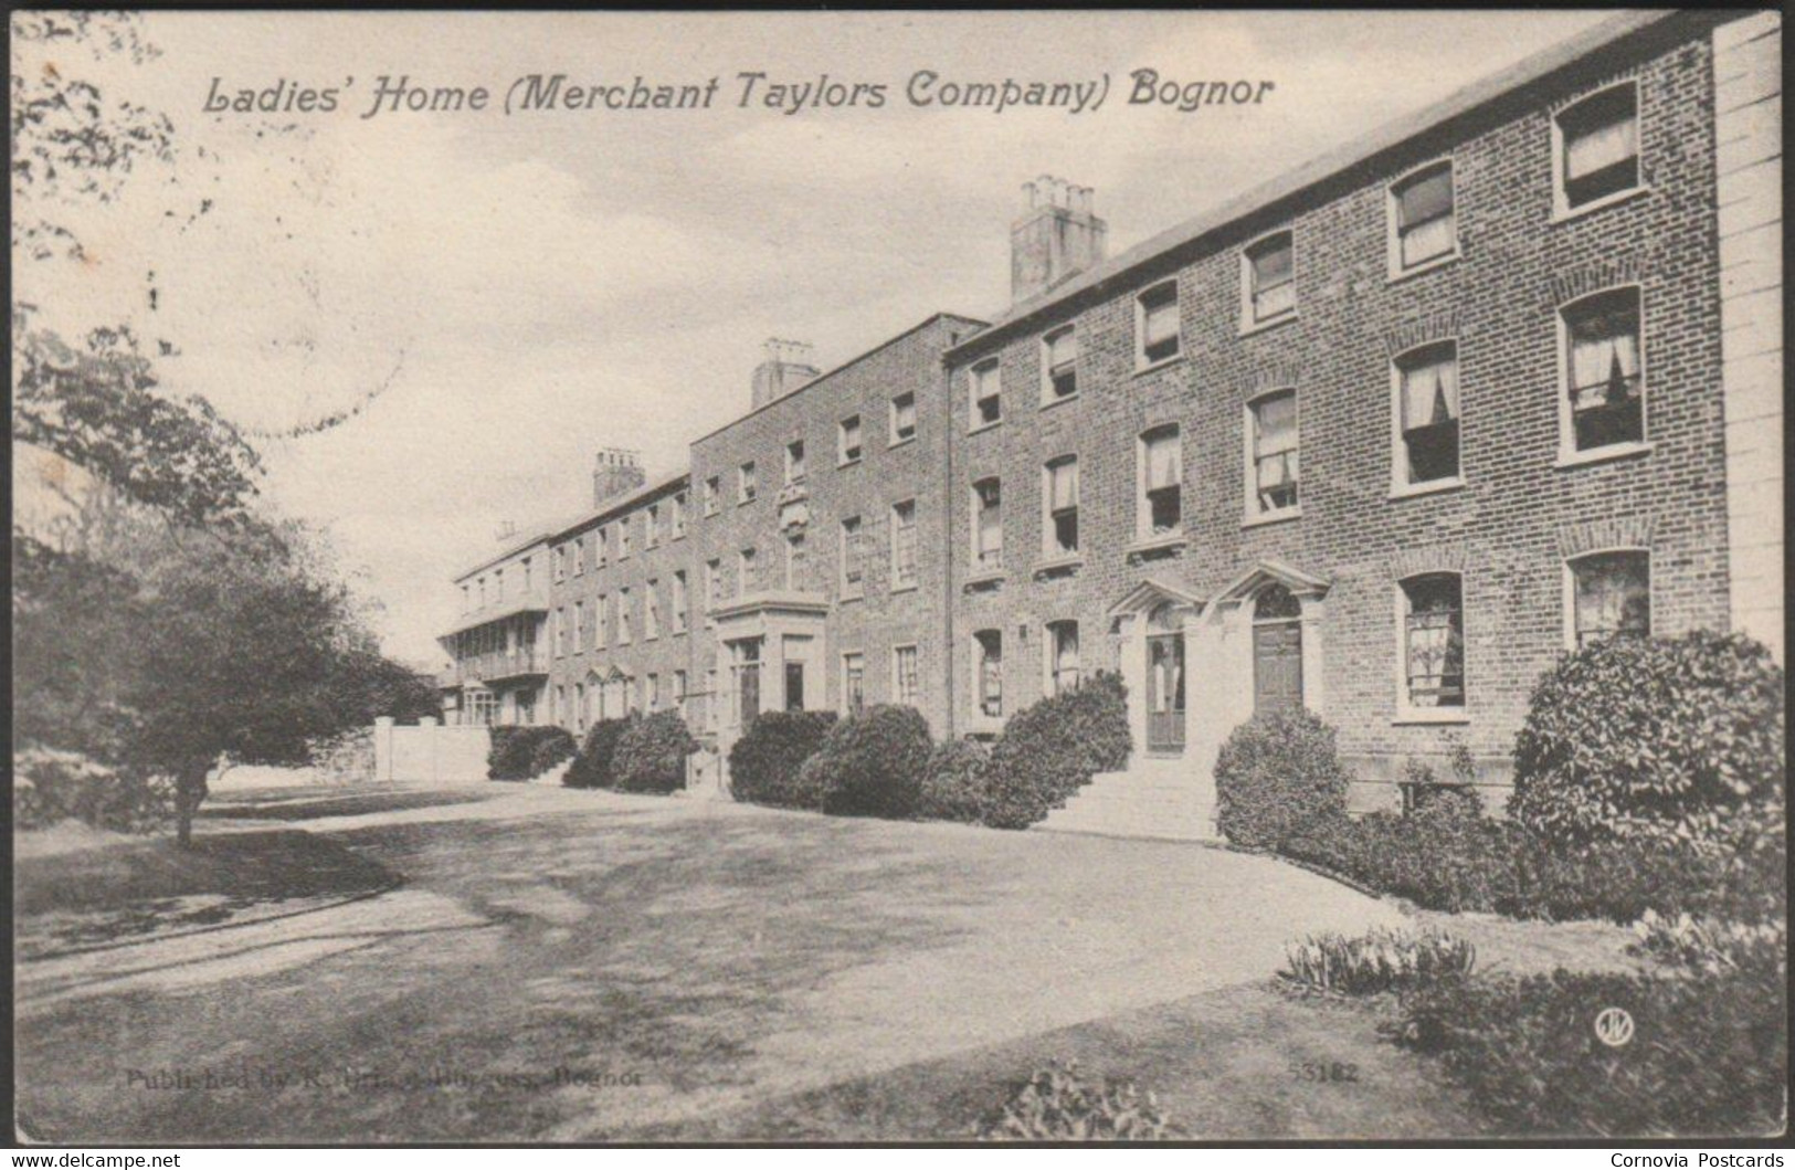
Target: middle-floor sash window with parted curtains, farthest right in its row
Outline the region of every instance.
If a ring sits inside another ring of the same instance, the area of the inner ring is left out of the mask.
[[[1562,310],[1571,452],[1646,438],[1639,289],[1585,296]]]

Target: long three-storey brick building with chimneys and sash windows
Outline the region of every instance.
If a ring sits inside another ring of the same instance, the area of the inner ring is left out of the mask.
[[[1115,258],[1030,185],[993,323],[779,345],[689,481],[547,535],[691,495],[585,594],[684,571],[689,635],[556,657],[558,718],[582,669],[682,669],[718,750],[854,702],[985,734],[1120,669],[1136,761],[1081,802],[1201,820],[1255,709],[1339,727],[1368,806],[1454,745],[1504,784],[1580,641],[1781,655],[1779,54],[1775,13],[1621,14]]]

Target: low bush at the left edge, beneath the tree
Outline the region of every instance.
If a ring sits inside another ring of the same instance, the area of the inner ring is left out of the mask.
[[[153,833],[174,816],[174,784],[120,773],[79,752],[22,747],[13,757],[13,827],[79,820],[113,833]]]

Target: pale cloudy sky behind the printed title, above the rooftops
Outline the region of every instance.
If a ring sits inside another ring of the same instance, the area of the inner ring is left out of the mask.
[[[601,447],[650,477],[749,407],[766,337],[835,366],[1009,305],[1021,183],[1095,188],[1118,253],[1610,13],[151,13],[145,63],[65,56],[162,109],[172,165],[66,208],[90,260],[16,264],[52,327],[172,337],[163,386],[262,438],[273,508],[327,533],[390,653],[443,662],[451,576],[589,504]],[[29,66],[41,66],[29,61]],[[18,66],[18,65],[16,65]],[[1256,106],[1131,104],[1131,74],[1271,81]],[[915,106],[941,83],[1097,83],[1095,111]],[[869,108],[740,108],[766,84]],[[704,84],[709,109],[499,109],[519,77]],[[379,77],[483,111],[363,117]],[[354,81],[350,81],[354,79]],[[330,113],[214,92],[337,90]],[[210,199],[197,221],[169,215]],[[153,276],[151,276],[153,275]],[[147,305],[145,289],[158,289]]]

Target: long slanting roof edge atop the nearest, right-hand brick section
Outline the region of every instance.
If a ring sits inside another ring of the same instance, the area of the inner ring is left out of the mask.
[[[968,337],[959,345],[948,346],[942,359],[951,364],[975,352],[982,352],[982,348],[996,337],[1007,336],[1025,323],[1061,310],[1068,301],[1102,292],[1106,285],[1118,284],[1122,278],[1136,275],[1138,269],[1151,266],[1172,251],[1192,248],[1208,237],[1237,228],[1240,223],[1264,214],[1285,199],[1292,199],[1325,183],[1337,181],[1341,176],[1352,172],[1355,167],[1366,165],[1380,154],[1411,145],[1414,140],[1436,133],[1450,122],[1511,97],[1526,84],[1542,81],[1563,68],[1569,68],[1571,65],[1576,65],[1578,61],[1623,41],[1635,32],[1664,25],[1680,16],[1698,16],[1707,20],[1712,20],[1714,16],[1725,18],[1721,13],[1705,16],[1693,13],[1691,9],[1646,9],[1621,13],[1614,20],[1605,20],[1603,23],[1585,29],[1572,38],[1524,57],[1504,70],[1454,90],[1423,109],[1393,118],[1371,133],[1355,138],[1344,147],[1312,158],[1278,178],[1249,188],[1242,196],[1228,199],[1221,206],[1185,219],[1165,231],[1149,237],[1134,248],[1129,248],[1122,255],[1070,276],[1057,287],[1048,289],[1032,300],[1012,305],[1007,312],[998,314],[996,321],[993,321],[980,334]]]

